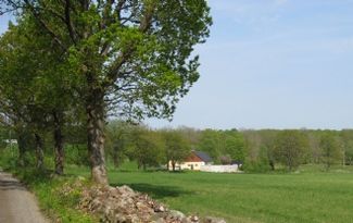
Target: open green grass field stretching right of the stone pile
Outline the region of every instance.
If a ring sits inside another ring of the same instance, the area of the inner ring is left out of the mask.
[[[78,169],[70,172],[81,174]],[[86,173],[87,174],[87,173]],[[171,208],[223,216],[227,222],[353,222],[353,174],[216,174],[110,170],[110,182],[129,185]]]

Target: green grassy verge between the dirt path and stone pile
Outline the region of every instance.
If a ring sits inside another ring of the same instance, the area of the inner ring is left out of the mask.
[[[53,221],[70,223],[89,223],[97,222],[94,216],[90,216],[76,209],[81,185],[77,186],[76,177],[54,177],[49,171],[37,170],[34,168],[18,168],[16,156],[10,149],[0,151],[0,166],[7,171],[11,171],[25,183],[38,198],[40,208]],[[50,158],[49,160],[52,160]],[[81,181],[84,185],[87,181]],[[63,189],[65,189],[63,191]]]

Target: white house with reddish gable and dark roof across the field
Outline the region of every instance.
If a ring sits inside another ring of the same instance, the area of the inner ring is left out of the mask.
[[[213,161],[211,157],[203,151],[191,151],[190,156],[181,163],[175,163],[175,170],[200,171],[201,166],[210,165]],[[173,171],[172,161],[168,163],[169,171]]]

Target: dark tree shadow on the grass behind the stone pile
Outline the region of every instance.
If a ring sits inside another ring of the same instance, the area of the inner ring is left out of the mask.
[[[112,184],[111,186],[122,186],[123,184]],[[184,195],[192,195],[192,191],[185,190],[177,186],[159,186],[152,184],[124,184],[133,189],[146,193],[152,198],[162,199],[166,197],[179,197]]]

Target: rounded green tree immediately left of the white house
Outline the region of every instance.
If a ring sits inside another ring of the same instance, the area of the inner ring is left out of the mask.
[[[175,171],[175,164],[184,161],[190,154],[191,147],[178,131],[164,129],[162,135],[165,141],[164,150],[167,169],[169,170],[171,162],[172,169]]]

